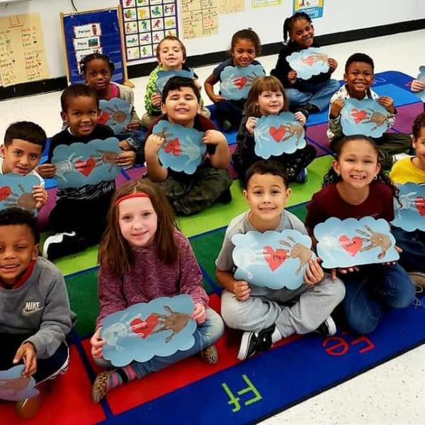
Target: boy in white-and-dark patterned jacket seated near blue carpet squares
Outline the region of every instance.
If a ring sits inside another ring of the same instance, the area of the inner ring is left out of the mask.
[[[390,113],[388,118],[390,127],[395,124],[397,111],[392,98],[378,96],[375,91],[370,89],[373,84],[374,67],[372,58],[364,53],[354,53],[348,57],[345,65],[345,84],[332,96],[329,108],[327,137],[329,138],[329,147],[333,152],[336,151],[339,140],[344,137],[341,127],[341,109],[344,107],[344,101],[348,98],[356,98],[359,101],[366,98],[376,99]],[[380,164],[384,169],[390,169],[400,157],[397,154],[407,152],[411,144],[410,136],[401,133],[385,132],[381,137],[375,137],[373,140],[378,145]]]

